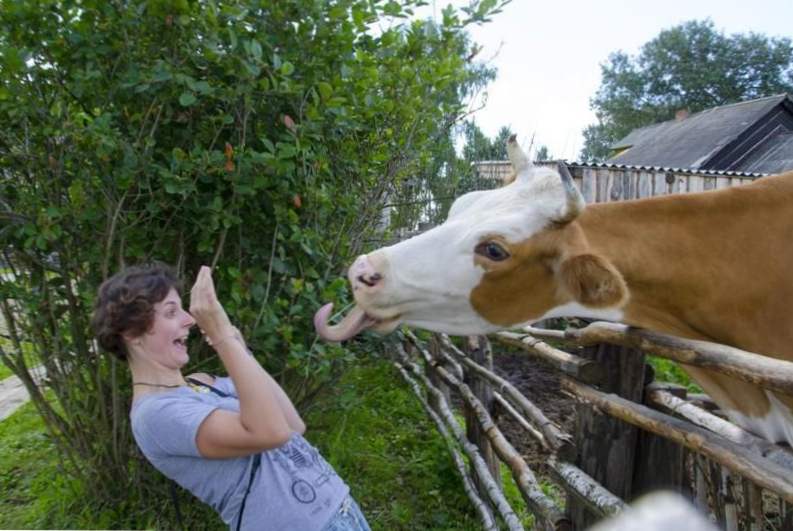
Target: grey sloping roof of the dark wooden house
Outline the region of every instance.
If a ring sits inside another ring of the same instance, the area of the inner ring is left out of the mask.
[[[789,99],[787,94],[722,105],[692,114],[681,120],[670,120],[632,131],[613,144],[625,151],[607,163],[701,168],[738,135]]]

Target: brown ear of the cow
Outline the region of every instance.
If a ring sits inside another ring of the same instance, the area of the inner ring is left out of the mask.
[[[620,307],[628,287],[617,268],[595,254],[579,254],[562,261],[559,282],[573,299],[592,308]]]

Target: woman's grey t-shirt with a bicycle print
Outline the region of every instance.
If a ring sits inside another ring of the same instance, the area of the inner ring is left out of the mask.
[[[214,387],[232,396],[179,387],[135,400],[130,412],[132,433],[155,468],[236,528],[253,458],[208,459],[198,452],[196,435],[201,422],[216,408],[240,408],[231,378],[216,379]],[[245,502],[242,529],[320,530],[349,493],[333,468],[297,433],[261,456]]]

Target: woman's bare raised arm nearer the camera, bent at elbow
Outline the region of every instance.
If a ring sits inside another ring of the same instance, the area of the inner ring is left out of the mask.
[[[239,413],[216,409],[201,423],[196,445],[201,455],[226,458],[277,448],[292,428],[273,388],[272,378],[245,345],[217,300],[212,276],[203,266],[190,295],[190,313],[226,367],[240,400]]]

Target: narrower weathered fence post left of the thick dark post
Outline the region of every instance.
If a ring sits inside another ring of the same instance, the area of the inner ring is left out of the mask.
[[[485,336],[469,336],[465,342],[466,353],[476,363],[482,365],[487,370],[493,370],[493,352],[490,342]],[[477,376],[473,371],[465,371],[463,381],[471,388],[471,392],[482,402],[489,413],[493,413],[493,390],[490,383],[484,378]],[[466,435],[468,440],[474,443],[482,452],[482,457],[490,469],[496,484],[501,486],[501,469],[498,456],[496,455],[490,439],[479,425],[476,413],[467,406],[464,407]]]

